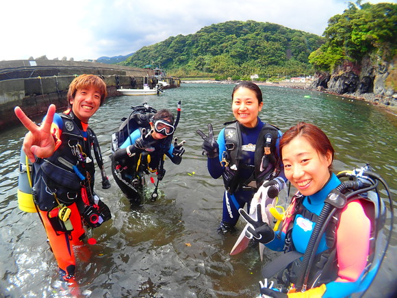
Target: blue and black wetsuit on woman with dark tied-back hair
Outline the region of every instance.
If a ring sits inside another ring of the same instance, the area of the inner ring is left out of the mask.
[[[235,132],[241,136],[241,138],[237,138],[241,140],[241,144],[233,149],[229,148],[229,139],[233,134],[233,131],[229,130],[231,125],[234,125]],[[231,125],[222,129],[218,136],[218,158],[208,158],[207,161],[209,174],[214,179],[222,175],[225,182],[221,228],[233,227],[240,216],[238,210],[244,208],[246,203],[249,209],[249,203],[260,184],[265,179],[272,179],[275,175],[279,175],[274,169],[282,169],[277,162],[282,133],[277,127],[268,125],[259,118],[257,125],[253,128],[244,127],[238,122]],[[264,156],[265,146],[263,137],[269,133],[272,135],[272,158],[270,158],[266,169],[260,171],[259,167],[261,158]],[[233,154],[232,151],[238,151],[238,153]],[[238,156],[238,158],[233,158],[233,156]],[[225,160],[228,164],[225,163]],[[261,175],[262,173],[266,175]]]

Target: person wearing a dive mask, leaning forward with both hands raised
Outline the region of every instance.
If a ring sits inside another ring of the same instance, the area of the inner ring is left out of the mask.
[[[159,180],[164,177],[164,155],[168,156],[174,164],[180,164],[185,153],[183,144],[177,142],[172,136],[175,132],[175,116],[169,110],[159,110],[153,115],[150,122],[150,130],[140,127],[134,130],[129,138],[114,152],[112,157],[116,163],[114,175],[122,175],[128,172],[128,176],[137,177],[138,164],[144,164],[144,172],[156,172]],[[149,132],[148,132],[149,130]],[[147,166],[146,166],[147,165]],[[125,171],[125,173],[123,173]],[[124,177],[124,176],[123,176]],[[142,195],[134,189],[133,178],[131,181],[118,183],[118,186],[127,195],[132,205],[139,205]]]

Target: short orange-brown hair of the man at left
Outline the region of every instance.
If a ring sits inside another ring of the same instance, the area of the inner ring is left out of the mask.
[[[103,79],[97,75],[79,75],[73,79],[68,90],[69,105],[71,103],[71,99],[75,98],[77,89],[84,89],[91,86],[101,93],[101,105],[103,105],[105,98],[107,97],[106,84],[103,82]]]

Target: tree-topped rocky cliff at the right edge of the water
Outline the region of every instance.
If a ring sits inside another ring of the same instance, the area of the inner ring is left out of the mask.
[[[318,71],[311,88],[397,105],[397,4],[350,2],[328,24],[326,42],[309,56]]]

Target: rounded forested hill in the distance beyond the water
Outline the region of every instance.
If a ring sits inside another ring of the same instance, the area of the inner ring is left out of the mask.
[[[142,47],[121,64],[160,64],[179,77],[294,76],[313,73],[308,57],[323,43],[320,36],[273,23],[228,21]]]

